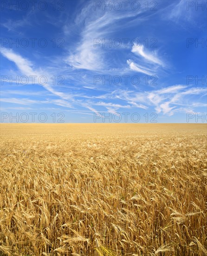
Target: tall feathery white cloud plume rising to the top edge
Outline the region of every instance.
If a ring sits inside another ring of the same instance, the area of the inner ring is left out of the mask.
[[[106,1],[108,4],[111,1]],[[108,40],[117,29],[122,29],[120,25],[124,20],[135,18],[141,14],[143,10],[120,11],[116,10],[96,10],[94,11],[94,3],[84,7],[84,10],[76,17],[77,24],[84,24],[81,31],[81,39],[77,42],[76,47],[70,52],[66,58],[66,62],[74,69],[86,69],[90,71],[103,72],[103,70],[111,70],[113,61],[109,61],[110,55],[104,47],[94,47],[94,40]],[[64,27],[64,29],[66,29]]]

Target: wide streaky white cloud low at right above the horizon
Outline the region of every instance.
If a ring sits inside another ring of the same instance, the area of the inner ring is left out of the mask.
[[[151,108],[153,107],[157,113],[164,115],[174,115],[178,111],[188,112],[193,111],[196,106],[205,107],[206,104],[188,102],[187,95],[200,95],[203,97],[207,94],[206,88],[190,88],[185,85],[174,85],[168,88],[161,88],[159,90],[133,92],[126,90],[116,90],[111,94],[103,94],[99,99],[120,99],[127,102],[129,108]],[[180,107],[181,106],[181,107]]]

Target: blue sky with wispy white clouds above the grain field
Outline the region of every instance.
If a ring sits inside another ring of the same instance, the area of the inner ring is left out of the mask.
[[[1,0],[0,21],[2,122],[206,122],[207,1]]]

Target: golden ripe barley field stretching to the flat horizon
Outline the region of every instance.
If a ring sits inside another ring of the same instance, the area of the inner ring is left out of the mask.
[[[206,124],[0,131],[0,256],[207,255]]]

